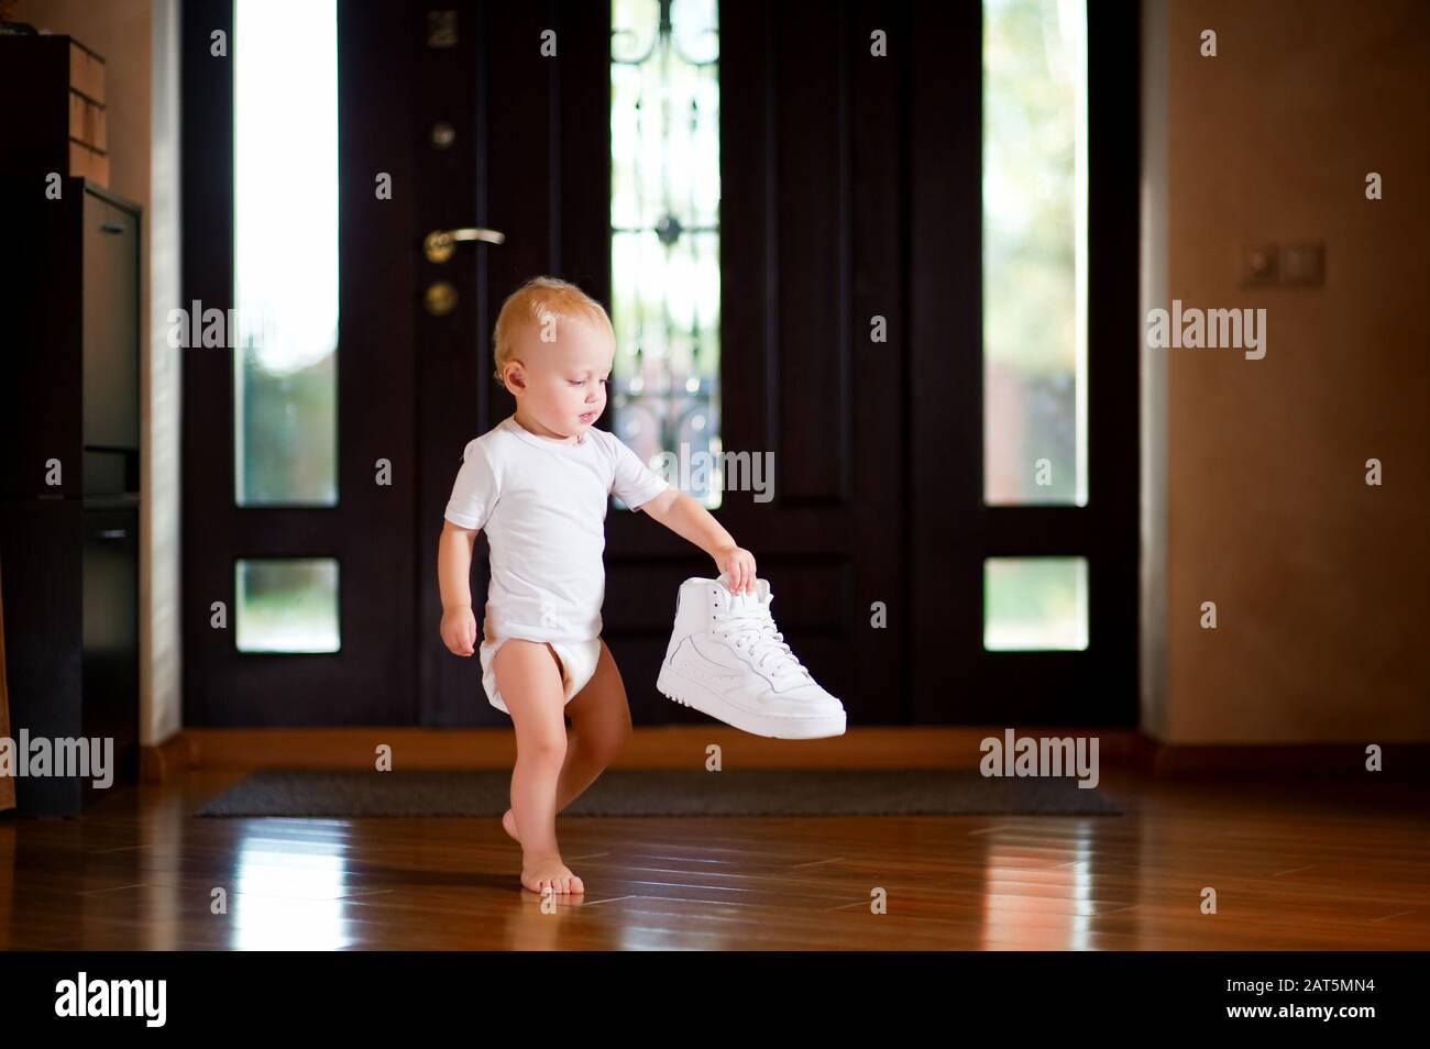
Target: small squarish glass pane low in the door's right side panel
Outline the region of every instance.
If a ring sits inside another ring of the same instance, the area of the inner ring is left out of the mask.
[[[984,560],[984,649],[1085,647],[1085,557]]]

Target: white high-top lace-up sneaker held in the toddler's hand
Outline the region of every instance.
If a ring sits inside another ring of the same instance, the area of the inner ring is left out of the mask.
[[[769,615],[769,582],[731,593],[728,577],[686,579],[655,686],[676,703],[772,739],[844,735],[844,705],[821,689]]]

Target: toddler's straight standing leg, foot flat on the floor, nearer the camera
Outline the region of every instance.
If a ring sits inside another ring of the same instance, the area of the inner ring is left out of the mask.
[[[522,885],[532,892],[585,892],[556,847],[556,782],[566,759],[565,692],[546,645],[512,639],[492,660],[496,687],[516,726],[512,815],[522,840]]]

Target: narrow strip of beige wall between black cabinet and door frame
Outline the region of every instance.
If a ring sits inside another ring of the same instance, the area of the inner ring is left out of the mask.
[[[179,302],[177,0],[21,0],[20,21],[104,57],[109,189],[142,204],[140,713],[143,743],[180,726],[179,360],[166,340]]]

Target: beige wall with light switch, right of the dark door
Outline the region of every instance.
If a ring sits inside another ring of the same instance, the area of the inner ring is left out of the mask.
[[[1167,677],[1144,722],[1180,743],[1430,739],[1430,4],[1148,7],[1167,20],[1157,304],[1266,307],[1267,352],[1143,350],[1164,354],[1168,449]],[[1326,243],[1324,287],[1238,287],[1243,244],[1296,240]]]

